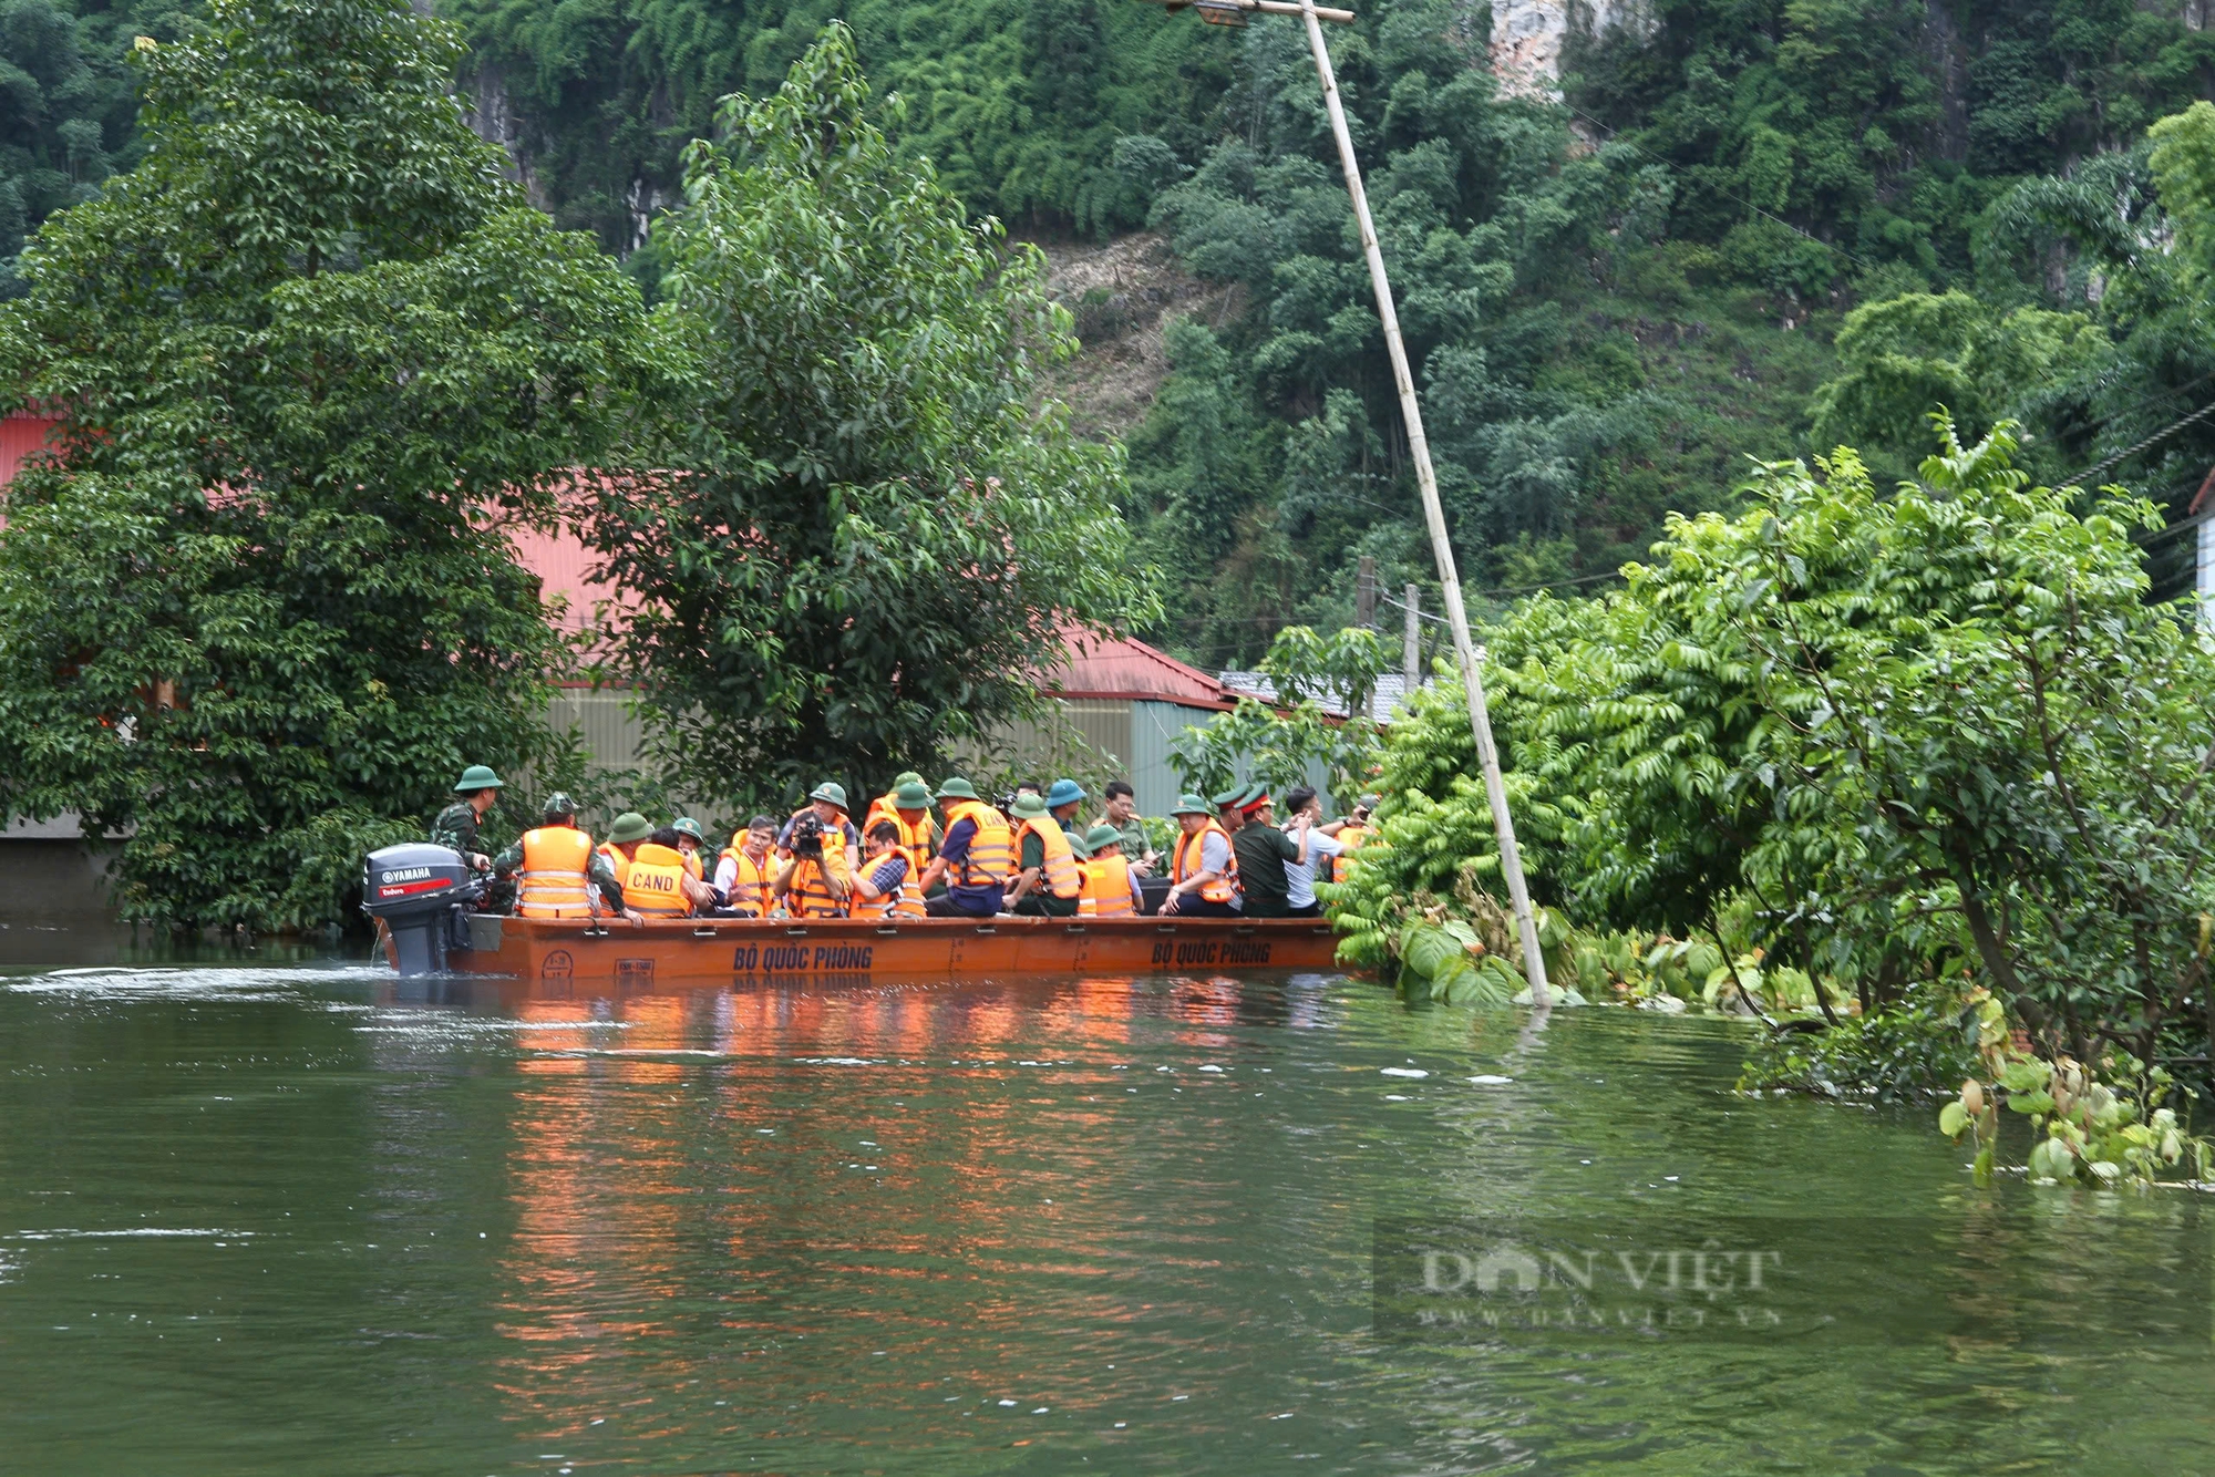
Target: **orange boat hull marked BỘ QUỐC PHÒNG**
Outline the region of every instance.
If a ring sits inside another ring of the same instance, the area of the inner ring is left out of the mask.
[[[1006,979],[1327,970],[1322,919],[594,919],[470,917],[456,974],[534,985]]]

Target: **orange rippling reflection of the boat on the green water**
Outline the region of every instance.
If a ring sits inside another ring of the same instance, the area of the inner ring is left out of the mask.
[[[729,1380],[729,1360],[842,1329],[950,1357],[1014,1346],[1023,1278],[1096,1284],[1081,1315],[1127,1318],[1103,1231],[1052,1207],[1081,1198],[1094,1158],[1154,1154],[1127,1109],[1139,1078],[1114,1072],[1136,1019],[1216,1050],[1229,1036],[1189,1027],[1236,1023],[1238,983],[744,985],[514,1010],[532,1030],[496,1384],[554,1437],[642,1377]],[[1072,1070],[1099,1092],[1072,1096]],[[1079,1315],[1068,1295],[1059,1311]]]

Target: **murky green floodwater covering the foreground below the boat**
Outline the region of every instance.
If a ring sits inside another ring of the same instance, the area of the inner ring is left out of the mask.
[[[2204,1344],[2102,1315],[2208,1306],[2182,1191],[1976,1189],[1923,1112],[1732,1096],[1739,1041],[1318,977],[18,972],[0,1470],[2215,1470]],[[1954,1318],[1898,1344],[1373,1329],[1380,1216],[1657,1211],[2007,1253],[1907,1269]]]

